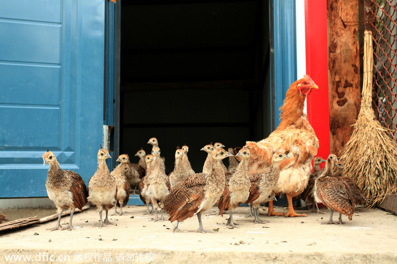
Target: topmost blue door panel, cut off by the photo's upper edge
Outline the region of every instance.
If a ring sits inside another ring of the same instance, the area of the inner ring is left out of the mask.
[[[0,17],[60,23],[61,5],[60,0],[0,0]]]

